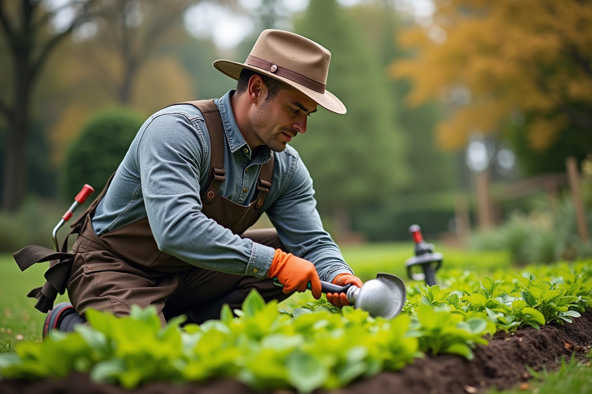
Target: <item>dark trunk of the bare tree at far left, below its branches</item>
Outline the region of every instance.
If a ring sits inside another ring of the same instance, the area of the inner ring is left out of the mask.
[[[17,83],[14,91],[14,112],[8,122],[8,135],[2,178],[2,210],[14,212],[21,205],[27,185],[27,146],[30,135],[28,111],[31,75],[28,53],[17,54]]]

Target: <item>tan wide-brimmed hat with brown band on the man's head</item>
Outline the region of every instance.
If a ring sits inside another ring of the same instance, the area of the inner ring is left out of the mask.
[[[244,63],[216,60],[214,67],[239,79],[249,69],[275,78],[300,90],[318,105],[335,113],[345,113],[345,105],[326,90],[331,53],[314,41],[289,31],[263,30]]]

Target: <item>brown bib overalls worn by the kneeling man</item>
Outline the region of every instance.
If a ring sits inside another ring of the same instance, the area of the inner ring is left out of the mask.
[[[274,159],[262,165],[258,190],[249,206],[219,196],[218,188],[226,180],[223,168],[225,138],[220,112],[213,100],[188,104],[200,109],[210,134],[210,171],[201,193],[202,213],[243,238],[285,250],[275,229],[245,231],[262,214],[260,208],[273,179]],[[110,181],[89,209],[72,224],[70,233],[79,233],[79,236],[71,253],[65,253],[66,238],[60,253],[41,246],[27,246],[14,254],[22,270],[36,262],[59,259],[50,264],[43,288],[34,289],[29,294],[29,297],[38,299],[38,310],[47,312],[52,309],[57,293],[63,294],[67,288],[70,301],[80,315],[88,308],[94,308],[121,317],[130,313],[132,304],[140,307],[154,305],[163,324],[183,313],[188,315],[190,322],[202,323],[218,318],[224,304],[229,304],[232,310],[240,308],[253,288],[266,301],[288,297],[267,277],[232,275],[199,268],[160,252],[147,217],[97,236],[91,218]]]

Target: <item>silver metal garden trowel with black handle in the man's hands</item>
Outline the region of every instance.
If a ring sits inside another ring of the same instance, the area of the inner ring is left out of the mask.
[[[276,286],[283,286],[274,278]],[[310,289],[310,282],[308,283]],[[321,291],[327,293],[345,293],[350,305],[355,305],[372,317],[391,319],[398,315],[405,305],[407,292],[403,279],[392,273],[378,273],[376,279],[371,279],[362,287],[348,284],[337,286],[321,281]]]

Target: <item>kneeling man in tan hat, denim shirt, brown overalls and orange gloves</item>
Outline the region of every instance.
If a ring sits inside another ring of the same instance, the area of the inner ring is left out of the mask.
[[[69,272],[72,304],[49,312],[44,335],[72,330],[88,308],[125,316],[132,304],[154,305],[163,324],[179,314],[202,323],[224,304],[239,308],[252,289],[269,301],[309,282],[318,299],[320,279],[361,286],[323,230],[310,175],[287,145],[317,105],[346,112],[325,90],[329,61],[307,38],[266,30],[245,63],[214,62],[238,79],[236,92],[152,115],[75,223],[73,256],[50,268]],[[247,230],[263,212],[275,229]],[[31,296],[40,310],[53,307],[47,284]],[[343,293],[327,299],[348,304]]]

